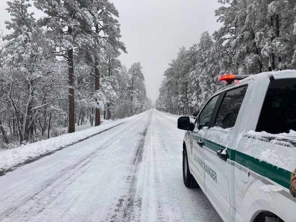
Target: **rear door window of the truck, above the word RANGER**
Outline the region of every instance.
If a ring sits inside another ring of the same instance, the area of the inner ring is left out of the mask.
[[[224,129],[234,126],[247,88],[248,86],[243,86],[226,92],[215,126],[220,126]]]

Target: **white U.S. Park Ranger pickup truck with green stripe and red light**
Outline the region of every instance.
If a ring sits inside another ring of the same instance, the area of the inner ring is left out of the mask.
[[[296,71],[220,80],[196,117],[178,119],[184,184],[225,222],[296,222]]]

